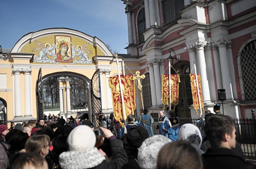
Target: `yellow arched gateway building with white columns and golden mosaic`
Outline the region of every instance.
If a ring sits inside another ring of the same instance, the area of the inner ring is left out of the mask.
[[[68,28],[49,28],[24,35],[7,53],[0,58],[0,115],[8,125],[48,115],[44,110],[53,97],[44,99],[46,87],[42,86],[50,77],[59,77],[49,81],[58,88],[55,115],[68,118],[83,111],[95,121],[98,113],[113,111],[109,77],[118,73],[116,57],[97,37]],[[122,68],[122,57],[117,59]],[[139,65],[132,65],[130,74],[135,74]],[[72,85],[76,84],[71,84],[70,77],[80,79],[86,90],[80,91],[86,93],[82,110],[72,109],[72,103],[76,104],[72,99],[77,98],[72,97]]]

